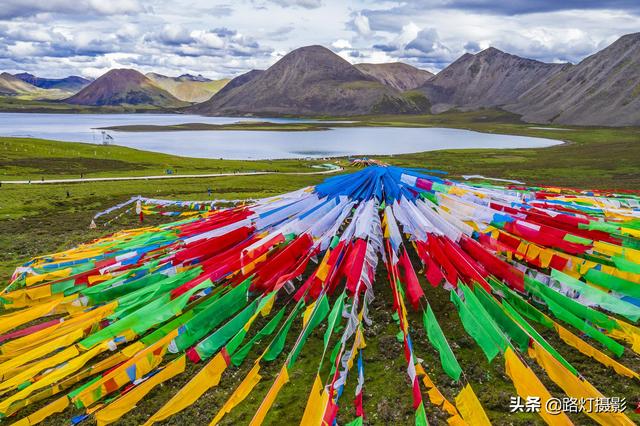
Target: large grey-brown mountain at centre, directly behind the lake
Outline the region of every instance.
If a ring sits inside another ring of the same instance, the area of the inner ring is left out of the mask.
[[[283,56],[266,71],[232,80],[189,111],[200,114],[356,115],[409,113],[427,109],[422,95],[405,96],[365,75],[322,46]]]

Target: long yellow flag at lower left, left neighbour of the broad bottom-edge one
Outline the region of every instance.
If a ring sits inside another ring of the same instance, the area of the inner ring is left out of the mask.
[[[98,426],[108,425],[118,421],[122,416],[131,411],[138,401],[144,398],[151,390],[162,382],[182,373],[186,366],[186,356],[171,361],[161,371],[154,374],[131,391],[125,393],[102,410],[95,413]]]

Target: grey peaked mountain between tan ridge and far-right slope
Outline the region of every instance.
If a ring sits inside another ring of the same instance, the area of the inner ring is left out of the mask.
[[[547,64],[490,47],[475,55],[465,53],[419,90],[429,98],[432,112],[496,107],[515,102],[567,67],[570,65]]]

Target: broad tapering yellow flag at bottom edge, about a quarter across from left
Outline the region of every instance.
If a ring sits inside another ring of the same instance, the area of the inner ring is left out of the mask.
[[[203,393],[218,386],[222,373],[227,369],[227,361],[222,352],[213,357],[182,389],[147,420],[145,425],[164,420],[193,404]]]

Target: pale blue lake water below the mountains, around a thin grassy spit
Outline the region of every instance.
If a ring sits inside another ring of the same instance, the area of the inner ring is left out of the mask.
[[[228,124],[256,118],[182,114],[0,113],[0,136],[101,143],[98,127],[180,123]],[[260,121],[313,121],[263,119]],[[258,160],[350,155],[408,154],[462,148],[541,148],[557,140],[445,128],[336,128],[317,132],[177,131],[114,132],[113,144],[186,157]]]

